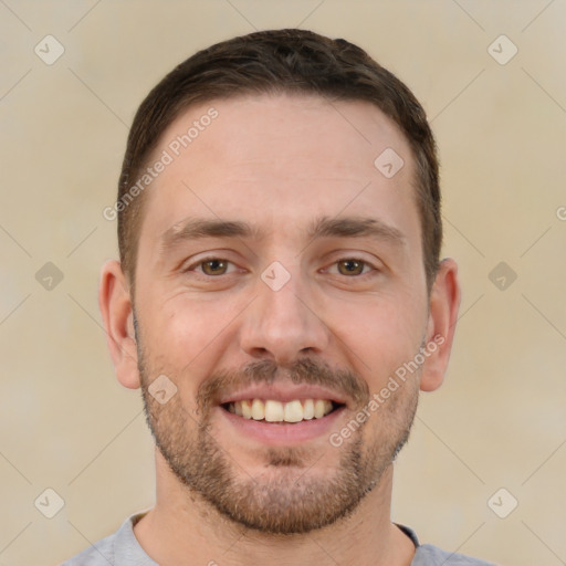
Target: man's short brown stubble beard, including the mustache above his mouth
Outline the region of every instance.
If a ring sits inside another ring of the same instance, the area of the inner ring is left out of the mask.
[[[191,415],[182,407],[179,394],[160,405],[148,392],[151,377],[158,373],[148,371],[139,342],[138,360],[146,420],[176,478],[224,518],[264,534],[304,534],[349,516],[407,442],[418,403],[418,390],[407,382],[407,390],[389,398],[379,408],[379,417],[360,424],[354,438],[340,448],[328,443],[328,451],[342,451],[338,464],[329,473],[321,475],[319,471],[310,470],[324,453],[313,461],[312,450],[279,447],[265,449],[264,471],[250,474],[213,437],[212,392],[229,381],[243,382],[244,376],[245,382],[272,381],[276,365],[260,361],[247,366],[244,371],[217,376],[208,388],[199,390],[198,410]],[[369,391],[361,378],[331,374],[319,363],[306,360],[295,364],[291,375],[296,382],[345,382],[359,407],[367,405]]]

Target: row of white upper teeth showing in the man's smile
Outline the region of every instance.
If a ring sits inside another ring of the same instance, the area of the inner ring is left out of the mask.
[[[319,419],[332,411],[332,401],[327,399],[295,399],[289,402],[274,399],[244,399],[228,405],[228,410],[244,419],[263,420],[268,422],[300,422]]]

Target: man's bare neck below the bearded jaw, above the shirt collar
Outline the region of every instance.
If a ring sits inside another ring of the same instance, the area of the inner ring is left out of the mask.
[[[272,535],[234,524],[190,493],[157,449],[156,464],[156,505],[134,533],[160,566],[240,566],[258,558],[273,566],[409,566],[415,555],[412,542],[389,518],[392,465],[348,517],[307,534]]]

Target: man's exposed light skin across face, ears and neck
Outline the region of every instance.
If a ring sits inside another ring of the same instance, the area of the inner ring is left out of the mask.
[[[189,108],[154,157],[212,105],[214,122],[144,195],[135,297],[117,262],[102,273],[116,374],[143,388],[158,447],[156,506],[135,534],[166,566],[408,565],[415,547],[389,518],[392,459],[419,389],[442,382],[460,302],[452,260],[427,294],[409,146],[367,103],[248,96]],[[374,166],[388,147],[405,161],[389,179]],[[179,237],[195,219],[253,230]],[[313,238],[321,219],[386,229]],[[289,275],[277,291],[261,276],[273,262]],[[434,336],[442,344],[333,446],[329,433]],[[160,375],[177,387],[166,403],[147,390]],[[254,385],[319,386],[344,407],[321,433],[274,442],[219,405]]]

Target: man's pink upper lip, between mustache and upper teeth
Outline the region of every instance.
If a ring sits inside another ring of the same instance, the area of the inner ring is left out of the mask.
[[[219,405],[242,401],[244,399],[272,399],[281,402],[294,401],[295,399],[328,399],[339,405],[346,405],[344,396],[326,387],[283,382],[255,384],[243,389],[223,394],[220,397]]]

